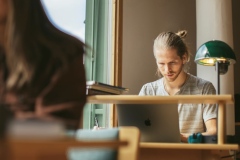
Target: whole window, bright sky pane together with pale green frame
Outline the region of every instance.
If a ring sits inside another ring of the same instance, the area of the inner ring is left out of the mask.
[[[84,57],[87,80],[118,85],[114,75],[116,30],[112,17],[115,17],[115,14],[111,13],[115,11],[114,7],[119,1],[43,0],[43,3],[50,20],[57,28],[87,44]],[[109,105],[86,104],[83,112],[83,128],[92,128],[95,116],[100,126],[113,126],[113,121],[110,121],[112,117],[114,118],[113,113]]]

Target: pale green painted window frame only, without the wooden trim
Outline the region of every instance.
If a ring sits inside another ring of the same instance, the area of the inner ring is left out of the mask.
[[[109,83],[111,59],[109,58],[109,0],[86,1],[85,43],[89,46],[85,56],[87,80]],[[99,125],[108,127],[109,107],[104,104],[86,104],[83,127],[92,128],[94,118]]]

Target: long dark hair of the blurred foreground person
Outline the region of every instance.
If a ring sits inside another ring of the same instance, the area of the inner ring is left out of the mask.
[[[41,0],[9,0],[8,11],[6,90],[36,96],[83,55],[84,44],[49,21]]]

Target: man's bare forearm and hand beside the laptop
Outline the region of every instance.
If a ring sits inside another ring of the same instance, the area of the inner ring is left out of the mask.
[[[216,135],[217,134],[217,119],[212,118],[205,122],[206,132],[203,132],[202,135]],[[181,133],[181,141],[188,142],[188,137],[192,133]]]

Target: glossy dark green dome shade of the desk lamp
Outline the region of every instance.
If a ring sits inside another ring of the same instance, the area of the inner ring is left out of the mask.
[[[234,64],[236,56],[227,43],[212,40],[202,44],[198,48],[194,61],[197,64],[206,66],[214,66],[216,61]]]

